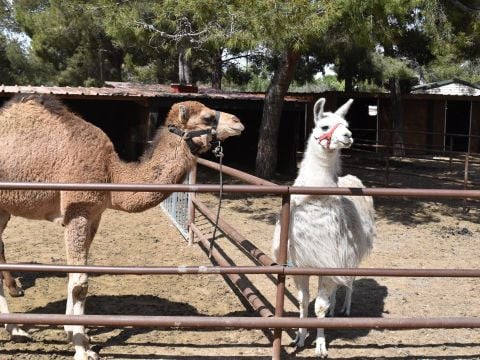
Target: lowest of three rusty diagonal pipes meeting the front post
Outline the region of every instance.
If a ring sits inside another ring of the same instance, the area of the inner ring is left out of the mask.
[[[205,249],[210,248],[210,242],[208,241],[207,238],[202,234],[202,232],[195,226],[195,224],[191,224],[191,228],[193,232],[195,233],[195,236],[200,240],[202,245],[204,246]],[[215,259],[215,261],[220,265],[227,267],[230,264],[225,260],[225,258],[220,254],[220,252],[212,248],[212,256]],[[240,276],[238,274],[226,274],[230,280],[238,287],[238,289],[241,291],[245,299],[252,305],[253,309],[257,311],[260,316],[262,317],[269,317],[273,316],[272,312],[269,310],[268,306],[265,305],[265,303],[259,298],[259,296],[255,293],[255,291],[252,289],[253,285],[250,283],[250,281],[245,277],[245,276]]]

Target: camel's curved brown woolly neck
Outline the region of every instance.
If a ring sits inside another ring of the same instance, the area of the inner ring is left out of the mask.
[[[153,152],[145,154],[138,163],[124,163],[118,158],[112,163],[113,183],[178,184],[183,181],[195,160],[185,141],[160,129],[154,141]],[[162,202],[169,193],[112,192],[111,208],[140,212]]]

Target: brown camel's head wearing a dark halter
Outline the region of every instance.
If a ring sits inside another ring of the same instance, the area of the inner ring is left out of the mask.
[[[210,149],[212,141],[240,135],[245,129],[235,115],[212,110],[198,101],[174,104],[166,125],[181,130],[184,136],[191,134],[191,141],[198,147],[197,153]]]

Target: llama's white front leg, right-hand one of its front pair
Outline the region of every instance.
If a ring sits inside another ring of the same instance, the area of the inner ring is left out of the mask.
[[[330,308],[330,296],[337,289],[337,285],[328,277],[318,279],[318,294],[315,299],[315,315],[317,318],[324,318]],[[325,331],[323,328],[317,329],[317,339],[315,344],[315,354],[322,358],[328,356],[327,345],[325,342]]]

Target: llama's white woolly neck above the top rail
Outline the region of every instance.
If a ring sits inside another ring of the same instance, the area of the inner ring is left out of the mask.
[[[338,186],[341,168],[340,151],[325,151],[310,139],[300,164],[295,185],[297,186]]]

